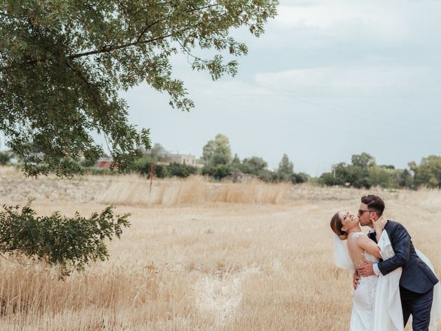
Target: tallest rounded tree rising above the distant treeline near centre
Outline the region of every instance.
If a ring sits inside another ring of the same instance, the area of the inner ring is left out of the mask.
[[[214,140],[208,141],[203,147],[202,158],[207,166],[227,165],[232,161],[228,138],[217,134]]]

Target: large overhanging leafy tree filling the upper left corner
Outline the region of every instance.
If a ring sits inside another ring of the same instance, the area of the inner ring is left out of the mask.
[[[167,92],[170,105],[194,106],[170,57],[184,54],[194,70],[216,80],[235,75],[228,56],[247,54],[229,31],[255,36],[276,15],[278,0],[4,0],[0,5],[0,131],[24,161],[26,174],[81,172],[79,157],[96,161],[105,137],[120,171],[150,148],[149,130],[127,121],[119,98],[145,81]],[[214,50],[204,59],[195,50]],[[42,154],[31,151],[32,144]]]

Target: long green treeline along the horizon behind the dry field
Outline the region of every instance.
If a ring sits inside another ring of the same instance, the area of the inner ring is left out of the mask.
[[[34,148],[34,152],[39,152]],[[0,165],[17,163],[12,152],[0,152]],[[232,180],[245,175],[267,182],[289,181],[291,183],[305,183],[307,181],[321,185],[342,185],[354,188],[410,188],[420,186],[441,188],[441,156],[430,155],[424,157],[418,165],[415,161],[408,163],[406,169],[396,169],[393,165],[378,165],[374,157],[368,153],[354,154],[351,163],[340,162],[318,178],[311,178],[304,172],[294,172],[294,165],[283,154],[278,168],[269,170],[268,163],[261,157],[247,157],[240,159],[237,154],[232,156],[229,140],[223,134],[207,141],[203,146],[201,159],[196,165],[181,164],[170,159],[170,152],[161,144],[156,143],[150,150],[145,150],[143,157],[134,162],[132,171],[150,176],[151,165],[154,164],[154,177],[188,177],[192,174],[202,174],[220,180],[230,177]],[[109,169],[98,169],[95,163],[81,161],[79,167],[83,172],[92,174],[116,174]]]

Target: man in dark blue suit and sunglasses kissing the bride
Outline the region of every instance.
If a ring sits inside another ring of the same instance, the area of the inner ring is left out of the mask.
[[[373,228],[371,219],[377,221],[382,216],[383,210],[384,201],[380,197],[372,194],[365,195],[361,198],[360,210],[358,210],[360,225]],[[411,236],[404,226],[388,220],[384,230],[389,235],[395,256],[379,263],[365,261],[365,264],[358,268],[358,272],[363,277],[373,274],[379,276],[380,273],[386,275],[396,268],[402,267],[400,297],[404,326],[412,314],[413,331],[429,330],[433,285],[438,283],[438,279],[416,254]],[[377,242],[375,231],[371,230],[368,235],[369,238]],[[356,283],[356,279],[354,279],[354,283]]]

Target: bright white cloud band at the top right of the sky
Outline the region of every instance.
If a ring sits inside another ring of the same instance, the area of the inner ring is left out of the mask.
[[[276,19],[269,21],[263,42],[249,41],[259,49],[297,51],[433,45],[438,38],[435,8],[441,10],[441,3],[342,0],[301,1],[299,6],[298,1],[283,1]]]

